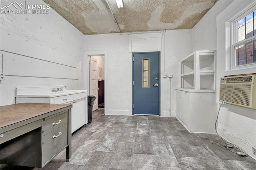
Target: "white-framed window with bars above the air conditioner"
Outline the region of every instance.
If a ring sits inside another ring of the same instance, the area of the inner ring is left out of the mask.
[[[256,63],[256,6],[231,22],[231,64],[240,68]]]

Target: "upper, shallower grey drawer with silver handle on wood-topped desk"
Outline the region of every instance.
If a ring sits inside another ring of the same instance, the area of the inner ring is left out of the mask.
[[[43,122],[43,135],[54,131],[55,129],[61,127],[62,125],[67,123],[67,114],[68,112],[64,112],[60,115],[54,116],[50,119],[46,119]]]

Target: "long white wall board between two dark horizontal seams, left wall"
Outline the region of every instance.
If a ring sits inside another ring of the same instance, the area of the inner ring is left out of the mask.
[[[24,55],[2,52],[6,76],[62,78],[78,80],[78,69]]]

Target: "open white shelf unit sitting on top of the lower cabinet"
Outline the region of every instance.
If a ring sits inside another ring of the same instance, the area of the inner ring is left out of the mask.
[[[195,51],[181,61],[181,89],[188,92],[215,92],[216,51]]]

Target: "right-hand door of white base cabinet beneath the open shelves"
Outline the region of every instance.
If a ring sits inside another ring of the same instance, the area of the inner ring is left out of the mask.
[[[190,113],[191,113],[190,94],[182,92],[181,93],[181,119],[186,125],[188,125],[188,127],[190,127]]]

